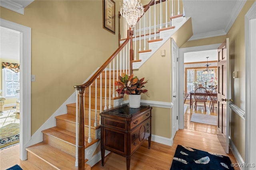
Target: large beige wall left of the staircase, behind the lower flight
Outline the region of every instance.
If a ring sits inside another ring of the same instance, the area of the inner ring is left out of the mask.
[[[32,134],[118,47],[103,29],[102,1],[35,0],[21,15],[0,8],[2,19],[32,28]]]

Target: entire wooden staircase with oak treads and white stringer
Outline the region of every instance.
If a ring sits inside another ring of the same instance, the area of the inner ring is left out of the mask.
[[[150,1],[148,6],[145,6],[144,11],[148,10],[152,4],[156,6],[156,1]],[[149,26],[147,28],[149,33],[147,34],[145,31],[146,24],[144,24],[144,31],[141,31],[141,28],[138,31],[136,29],[138,26],[136,26],[134,38],[132,37],[132,31],[128,30],[126,39],[120,41],[120,47],[93,76],[84,84],[74,86],[77,102],[67,104],[67,113],[55,117],[55,127],[42,131],[42,142],[26,148],[28,161],[34,163],[40,169],[54,170],[89,170],[90,166],[98,162],[100,160],[99,113],[104,109],[120,105],[123,100],[122,96],[118,96],[115,92],[117,87],[114,86],[114,81],[122,72],[130,74],[132,69],[140,68],[187,21],[183,15],[173,16],[171,20],[169,26],[166,23],[166,27],[159,28],[158,31],[152,31],[156,30],[156,24],[153,29]],[[143,44],[139,41],[144,41],[143,50],[136,48],[136,43]],[[146,49],[146,46],[148,49]],[[133,47],[135,49],[134,57]],[[137,53],[139,54],[138,60],[136,59]],[[79,137],[76,136],[78,131],[81,132]],[[76,148],[76,145],[78,148]],[[96,161],[92,161],[92,159]]]

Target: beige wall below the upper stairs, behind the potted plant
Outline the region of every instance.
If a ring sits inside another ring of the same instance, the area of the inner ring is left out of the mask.
[[[166,50],[166,56],[161,56],[161,50]],[[160,47],[139,70],[133,71],[138,78],[145,77],[148,83],[145,89],[150,97],[142,94],[142,100],[171,102],[171,39]],[[154,107],[152,109],[152,134],[166,138],[171,137],[171,109]]]

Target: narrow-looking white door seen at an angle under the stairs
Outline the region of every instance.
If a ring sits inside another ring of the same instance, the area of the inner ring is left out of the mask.
[[[179,49],[175,41],[172,39],[172,139],[176,131],[179,129],[179,100],[178,100],[178,53]]]

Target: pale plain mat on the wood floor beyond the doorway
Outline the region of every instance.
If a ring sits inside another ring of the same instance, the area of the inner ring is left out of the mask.
[[[190,121],[217,126],[217,116],[215,116],[215,115],[205,115],[205,114],[200,114],[200,113],[193,113]]]

